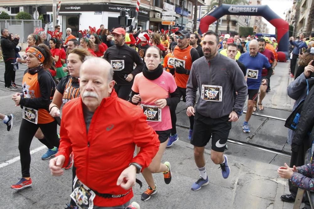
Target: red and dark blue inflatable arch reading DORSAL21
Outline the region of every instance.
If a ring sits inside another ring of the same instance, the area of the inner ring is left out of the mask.
[[[279,54],[284,53],[284,59],[289,56],[289,24],[273,12],[267,5],[231,5],[222,4],[200,20],[198,33],[208,31],[210,24],[224,15],[262,16],[277,29],[277,43]]]

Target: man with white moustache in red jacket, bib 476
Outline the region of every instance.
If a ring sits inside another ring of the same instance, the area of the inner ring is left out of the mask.
[[[82,64],[81,97],[63,107],[59,151],[49,162],[51,174],[62,175],[73,151],[71,197],[82,208],[128,206],[136,173],[149,166],[160,144],[143,110],[117,97],[112,76],[104,59]],[[140,152],[133,157],[135,145]]]

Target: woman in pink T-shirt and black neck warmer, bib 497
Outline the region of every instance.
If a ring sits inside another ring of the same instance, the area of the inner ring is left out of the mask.
[[[159,150],[152,163],[142,173],[148,183],[148,189],[141,196],[143,201],[149,200],[150,196],[157,192],[152,173],[162,172],[166,184],[169,184],[172,178],[170,163],[160,162],[171,133],[169,106],[171,103],[178,103],[180,96],[173,76],[163,71],[160,65],[161,57],[161,51],[157,46],[149,47],[145,55],[146,65],[143,72],[135,76],[132,86],[132,103],[141,104],[147,123],[159,135],[160,141]],[[139,152],[139,149],[137,151]]]

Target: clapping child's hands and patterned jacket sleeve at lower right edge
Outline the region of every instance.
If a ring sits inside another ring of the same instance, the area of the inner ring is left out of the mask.
[[[286,163],[278,168],[281,178],[290,179],[292,185],[307,191],[314,191],[314,162],[290,168]]]

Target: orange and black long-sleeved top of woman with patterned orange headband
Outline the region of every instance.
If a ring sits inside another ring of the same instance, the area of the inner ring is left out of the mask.
[[[35,74],[25,71],[19,105],[38,110],[38,123],[51,123],[54,118],[49,114],[49,104],[56,84],[51,75],[42,67]]]

